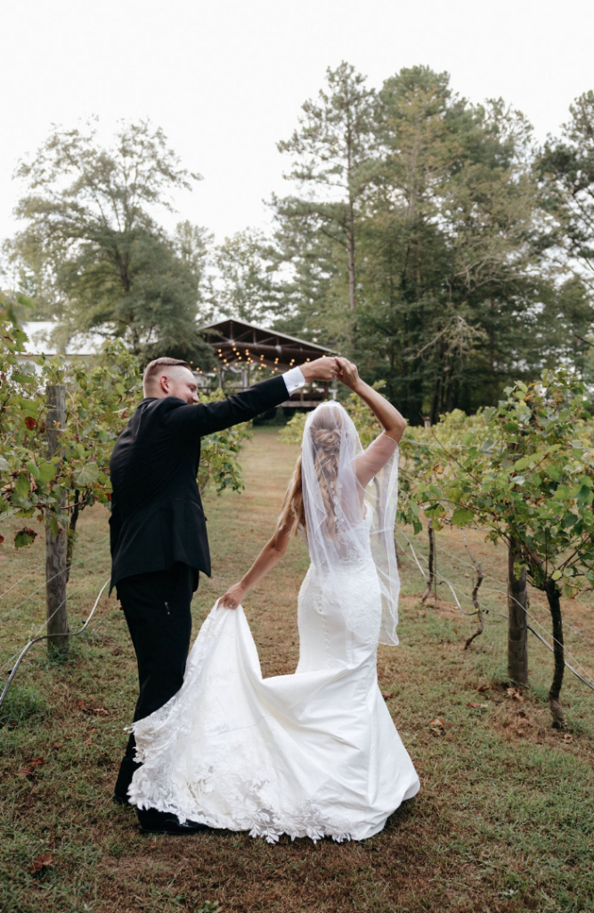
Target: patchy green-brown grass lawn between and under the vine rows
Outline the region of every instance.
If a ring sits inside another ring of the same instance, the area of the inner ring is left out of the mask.
[[[273,530],[295,456],[276,429],[256,428],[241,459],[245,492],[205,498],[214,577],[201,580],[194,599],[194,633]],[[97,507],[80,520],[78,564],[68,583],[72,629],[109,576],[107,519]],[[0,549],[3,679],[45,615],[43,530],[16,552],[15,528],[12,519],[3,524]],[[473,570],[463,563],[464,542],[457,531],[437,540],[437,570],[464,592],[468,611]],[[67,663],[50,663],[45,645],[34,646],[0,716],[0,909],[594,911],[594,692],[568,673],[568,730],[551,729],[552,655],[532,638],[533,687],[523,699],[507,693],[506,623],[495,614],[505,614],[505,553],[477,533],[469,541],[490,575],[481,596],[491,612],[468,650],[474,619],[457,610],[444,584],[437,603],[422,606],[420,573],[401,555],[401,645],[380,647],[380,687],[422,788],[381,834],[360,844],[283,838],[273,846],[226,832],[142,836],[133,811],[111,803],[137,687],[118,603],[101,599]],[[418,551],[425,551],[422,540]],[[296,666],[297,591],[306,570],[307,551],[296,540],[248,597],[265,675]],[[530,612],[548,631],[547,609],[538,603],[540,594],[531,593]],[[590,672],[593,605],[584,599],[564,606],[573,628],[568,661]]]

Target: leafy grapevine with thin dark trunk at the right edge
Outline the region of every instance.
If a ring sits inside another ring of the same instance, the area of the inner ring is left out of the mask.
[[[545,371],[538,383],[516,383],[485,410],[486,429],[466,432],[461,456],[443,447],[451,470],[443,482],[422,482],[417,493],[438,520],[477,522],[488,539],[505,541],[514,578],[526,569],[547,595],[555,659],[548,699],[557,727],[564,725],[561,596],[594,585],[594,456],[584,402],[583,382],[567,369]]]

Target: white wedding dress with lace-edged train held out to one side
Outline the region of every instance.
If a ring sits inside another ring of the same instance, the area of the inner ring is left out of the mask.
[[[331,586],[309,567],[294,675],[263,678],[243,608],[214,605],[181,690],[132,727],[142,761],[132,803],[270,842],[280,834],[340,841],[377,834],[418,792],[378,687],[370,519],[368,510],[365,548],[337,562]]]

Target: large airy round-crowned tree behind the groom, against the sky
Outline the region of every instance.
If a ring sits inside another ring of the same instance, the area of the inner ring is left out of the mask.
[[[167,236],[154,211],[199,175],[180,166],[160,129],[123,126],[111,148],[96,130],[55,131],[17,171],[28,187],[12,243],[24,290],[60,322],[62,339],[96,330],[143,355],[203,357],[195,331],[205,243],[191,226]],[[184,247],[185,245],[185,247]]]

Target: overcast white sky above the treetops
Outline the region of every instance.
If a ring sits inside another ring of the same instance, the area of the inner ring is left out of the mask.
[[[594,89],[591,0],[4,0],[0,34],[0,238],[16,163],[52,123],[162,126],[204,177],[179,217],[223,240],[266,225],[263,198],[287,188],[276,142],[342,59],[375,87],[401,67],[447,70],[471,100],[514,103],[539,139]]]

